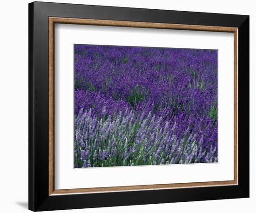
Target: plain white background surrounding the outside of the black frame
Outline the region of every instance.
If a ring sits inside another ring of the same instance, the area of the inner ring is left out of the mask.
[[[52,2],[59,2],[51,0]],[[256,209],[256,75],[253,41],[256,7],[252,0],[60,0],[63,3],[141,7],[250,15],[250,198],[141,206],[66,210],[65,212],[130,213],[188,212],[252,213]],[[27,212],[28,200],[28,0],[2,1],[0,6],[0,212]],[[255,67],[255,64],[254,64]],[[99,201],[100,202],[100,201]],[[64,212],[64,211],[59,211]]]

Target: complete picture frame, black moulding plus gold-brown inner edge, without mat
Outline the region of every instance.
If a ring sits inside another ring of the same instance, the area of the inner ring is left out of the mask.
[[[56,23],[234,33],[234,180],[55,190]],[[47,2],[29,4],[30,210],[246,197],[249,197],[249,16]]]

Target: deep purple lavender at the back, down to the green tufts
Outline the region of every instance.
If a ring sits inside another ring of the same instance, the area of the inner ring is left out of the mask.
[[[217,51],[78,45],[74,66],[75,90],[216,119]]]

